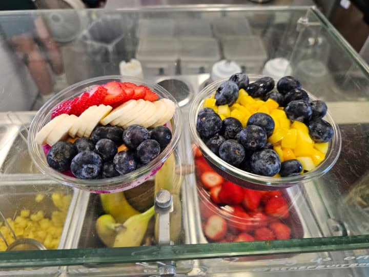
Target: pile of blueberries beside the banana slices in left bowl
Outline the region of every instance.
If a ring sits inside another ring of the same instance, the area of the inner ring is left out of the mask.
[[[124,175],[154,160],[172,140],[166,126],[148,130],[131,125],[97,126],[91,138],[80,137],[74,143],[59,141],[47,153],[47,162],[57,171],[71,170],[79,179],[103,179]],[[128,150],[119,151],[124,144]]]

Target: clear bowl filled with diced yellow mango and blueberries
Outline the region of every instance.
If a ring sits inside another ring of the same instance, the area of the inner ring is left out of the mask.
[[[293,76],[234,74],[204,88],[190,108],[195,145],[225,179],[274,190],[329,171],[341,151],[338,125],[323,101]]]

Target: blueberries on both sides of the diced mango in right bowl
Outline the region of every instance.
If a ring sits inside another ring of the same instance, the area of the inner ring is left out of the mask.
[[[326,104],[319,100],[309,103],[308,93],[301,88],[296,78],[285,76],[275,84],[273,78],[263,77],[249,83],[246,74],[234,74],[216,90],[216,106],[233,105],[240,89],[245,89],[254,98],[259,97],[263,101],[271,98],[277,102],[284,108],[289,120],[300,121],[308,126],[309,134],[316,143],[332,139],[333,127],[322,119],[327,112]],[[212,152],[244,171],[264,176],[279,173],[282,177],[301,173],[302,165],[298,160],[281,163],[273,144],[267,141],[275,128],[275,122],[269,114],[252,114],[245,128],[242,128],[240,120],[234,117],[222,120],[212,108],[207,107],[198,113],[196,130]]]

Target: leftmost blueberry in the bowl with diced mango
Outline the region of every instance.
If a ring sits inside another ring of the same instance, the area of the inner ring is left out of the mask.
[[[209,138],[218,134],[221,126],[222,121],[216,113],[208,112],[197,116],[196,130],[203,138]]]

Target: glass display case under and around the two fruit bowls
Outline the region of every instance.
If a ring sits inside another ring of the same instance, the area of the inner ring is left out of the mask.
[[[207,5],[1,12],[0,28],[0,276],[368,274],[369,67],[318,9]],[[119,74],[119,63],[132,58],[147,80],[165,87],[181,106],[176,150],[152,179],[125,192],[99,195],[51,181],[27,150],[37,109],[69,85]],[[265,65],[277,58],[288,66],[274,70],[275,76],[294,75],[327,103],[342,150],[324,176],[280,190],[289,205],[282,221],[288,238],[236,240],[232,211],[209,211],[213,203],[202,189],[189,107],[212,82],[217,61],[233,60],[246,73],[265,74],[272,72]],[[101,236],[101,215],[124,223],[132,210],[152,207],[161,188],[173,199],[166,231],[159,231],[156,214],[146,225],[137,224],[144,234],[133,246],[139,231],[126,237],[129,247],[112,243],[116,233]],[[222,240],[204,231],[209,212],[227,220]],[[167,240],[160,232],[167,232]],[[8,248],[22,238],[44,248]]]

